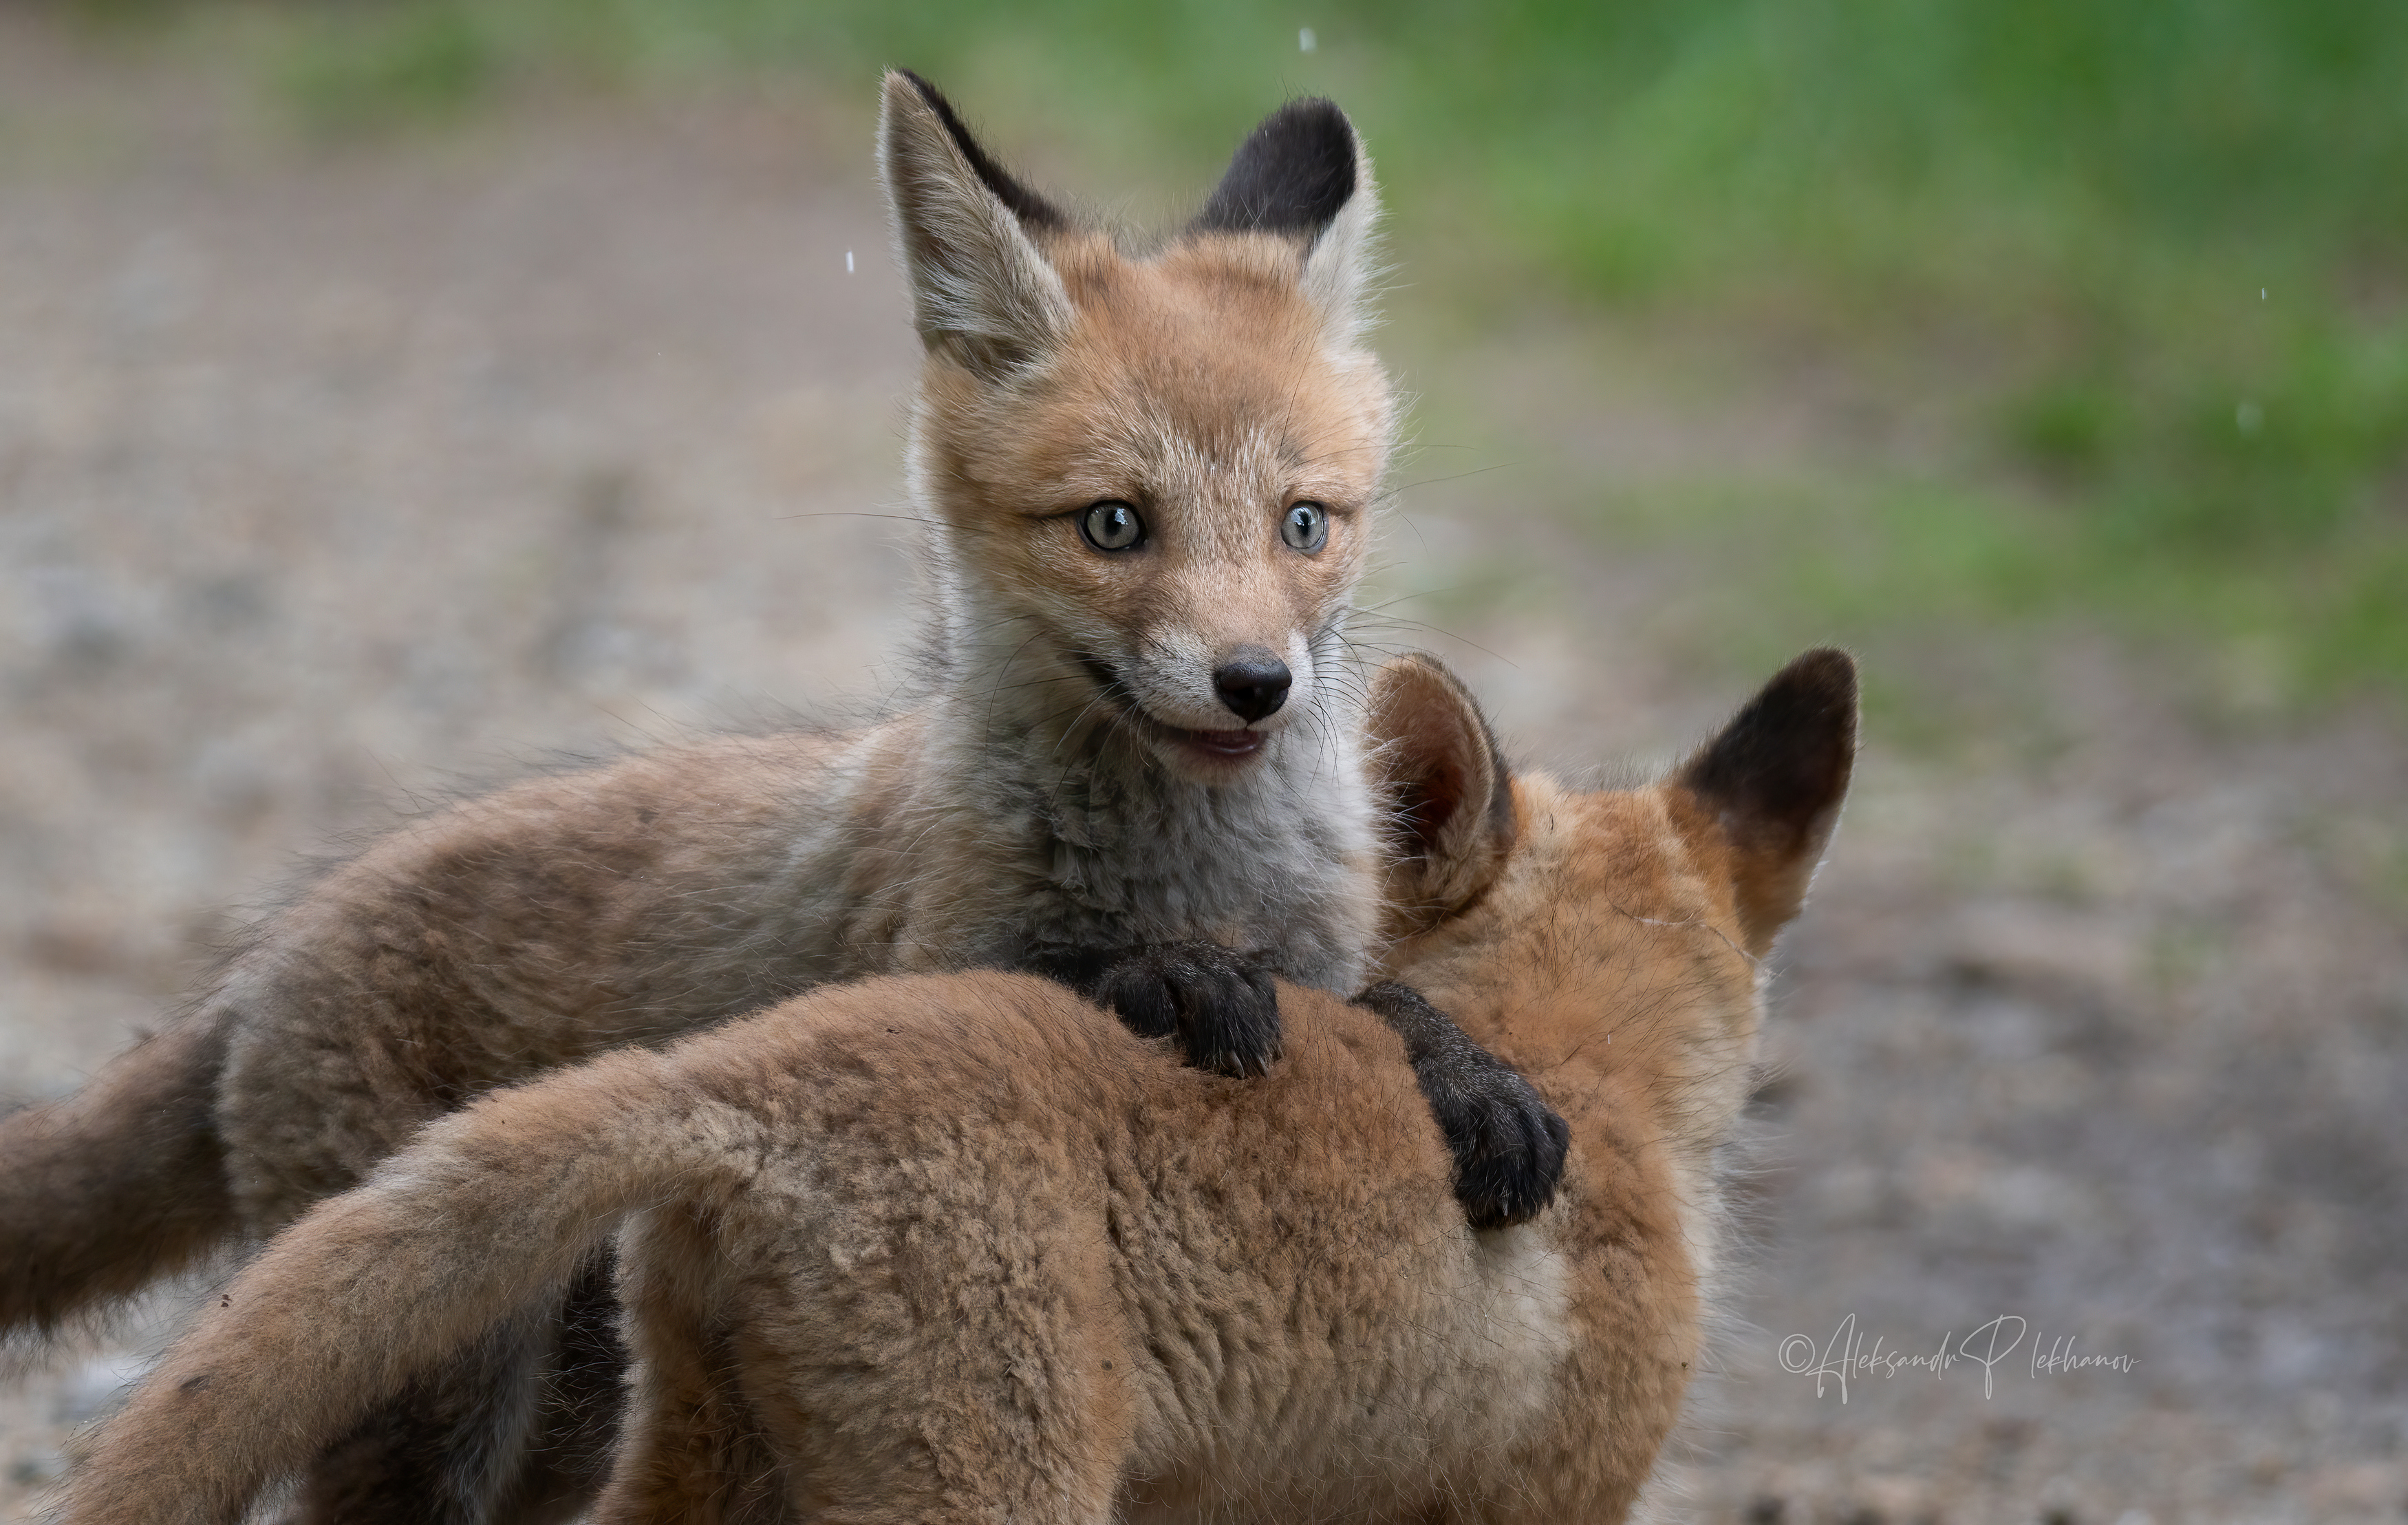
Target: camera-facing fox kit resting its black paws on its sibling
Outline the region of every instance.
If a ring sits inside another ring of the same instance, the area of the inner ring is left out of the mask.
[[[279,1229],[486,1089],[831,978],[1096,988],[1122,959],[1122,1012],[1240,1074],[1279,1050],[1257,964],[1361,985],[1380,884],[1344,619],[1394,402],[1363,345],[1351,125],[1274,113],[1149,258],[997,169],[910,75],[879,157],[927,347],[925,696],[864,732],[525,783],[332,872],[185,1021],[0,1123],[0,1335]],[[1442,1120],[1469,1164],[1505,1161],[1464,1180],[1476,1221],[1510,1221],[1560,1123],[1479,1058]],[[532,1433],[525,1385],[498,1388],[364,1433],[303,1513],[467,1518],[551,1486],[445,1438]]]

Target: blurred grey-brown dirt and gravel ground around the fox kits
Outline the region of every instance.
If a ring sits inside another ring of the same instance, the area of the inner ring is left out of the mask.
[[[1818,402],[1657,393],[1556,316],[1527,347],[1438,328],[1399,311],[1406,381],[1493,373],[1556,460],[1404,494],[1389,590],[1529,578],[1389,636],[1534,764],[1674,754],[1748,682],[1649,641],[1695,561],[1529,508],[1806,448]],[[0,1091],[77,1084],[395,809],[874,701],[913,622],[879,518],[910,364],[869,123],[797,87],[306,149],[0,12]],[[1775,978],[1758,1250],[1662,1508],[2401,1518],[2401,725],[2235,725],[2119,648],[2015,650],[2042,713],[1869,737]],[[2023,1325],[1987,1392],[1876,1366],[1842,1402],[1782,1352],[1837,1361],[1849,1318],[1883,1359]],[[137,1344],[0,1385],[0,1515]]]

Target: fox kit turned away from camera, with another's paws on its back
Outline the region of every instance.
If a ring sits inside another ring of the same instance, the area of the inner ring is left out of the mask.
[[[1228,1087],[1026,976],[872,981],[436,1123],[205,1311],[65,1518],[236,1520],[626,1221],[597,1520],[1621,1520],[1700,1352],[1712,1154],[1847,790],[1854,667],[1799,658],[1657,788],[1519,778],[1503,812],[1442,670],[1377,701],[1454,781],[1401,872],[1483,891],[1397,973],[1572,1120],[1534,1221],[1454,1209],[1411,1036],[1363,1012],[1411,1029],[1399,985],[1291,990],[1288,1062]]]

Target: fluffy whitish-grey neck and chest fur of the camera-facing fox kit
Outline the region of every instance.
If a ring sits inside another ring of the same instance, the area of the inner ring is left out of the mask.
[[[1211,940],[1353,993],[1377,884],[1361,703],[1334,677],[1341,629],[1317,636],[1320,677],[1264,756],[1204,785],[1163,769],[1050,631],[949,573],[939,552],[910,920],[915,942],[944,925],[951,952],[908,964]]]

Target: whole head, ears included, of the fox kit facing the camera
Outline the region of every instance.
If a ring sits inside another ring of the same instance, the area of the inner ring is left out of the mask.
[[[1004,173],[915,75],[886,77],[879,159],[958,677],[1002,723],[1100,723],[1202,783],[1298,725],[1351,735],[1329,708],[1394,405],[1363,347],[1377,198],[1346,116],[1276,111],[1141,258]]]

